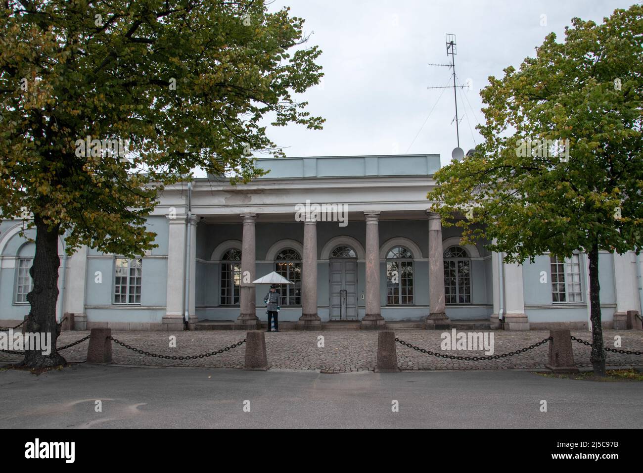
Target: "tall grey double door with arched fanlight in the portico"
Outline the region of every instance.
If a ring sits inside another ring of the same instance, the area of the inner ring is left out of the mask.
[[[329,256],[331,320],[358,320],[358,260],[349,245],[336,246]]]

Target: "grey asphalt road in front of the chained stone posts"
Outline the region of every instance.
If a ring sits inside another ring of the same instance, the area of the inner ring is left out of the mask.
[[[392,411],[394,400],[399,412]],[[325,375],[78,365],[41,376],[0,372],[1,428],[642,425],[643,383],[559,380],[527,371]]]

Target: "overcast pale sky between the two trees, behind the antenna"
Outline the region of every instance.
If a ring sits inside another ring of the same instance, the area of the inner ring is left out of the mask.
[[[272,127],[269,136],[287,156],[439,153],[444,165],[457,145],[453,89],[427,88],[451,84],[449,68],[428,66],[449,62],[446,33],[456,35],[458,80],[473,84],[469,91],[458,89],[460,147],[466,152],[481,141],[475,129],[484,118],[479,93],[490,75],[502,77],[503,68],[520,66],[552,31],[563,41],[572,17],[601,23],[615,8],[634,3],[276,0],[270,10],[290,6],[312,33],[309,44],[323,51],[323,82],[300,98],[326,122],[321,131]]]

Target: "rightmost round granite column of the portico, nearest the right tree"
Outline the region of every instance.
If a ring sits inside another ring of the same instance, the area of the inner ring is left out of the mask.
[[[426,212],[429,217],[429,315],[427,329],[449,328],[444,306],[444,250],[440,215]]]

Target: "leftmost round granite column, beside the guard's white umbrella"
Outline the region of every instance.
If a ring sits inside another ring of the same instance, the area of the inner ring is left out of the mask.
[[[241,288],[240,313],[237,328],[240,330],[257,329],[259,318],[255,310],[255,220],[257,214],[241,214],[243,219],[243,236],[241,244]]]

